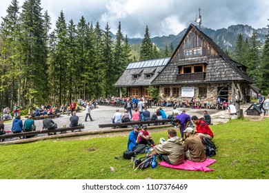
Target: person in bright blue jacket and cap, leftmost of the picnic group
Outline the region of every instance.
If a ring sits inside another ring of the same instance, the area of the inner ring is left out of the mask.
[[[146,147],[146,145],[144,144],[137,143],[138,133],[139,133],[139,125],[134,125],[132,127],[132,131],[129,134],[127,143],[128,150],[133,151],[135,155],[139,154],[140,152],[143,152],[143,150]]]

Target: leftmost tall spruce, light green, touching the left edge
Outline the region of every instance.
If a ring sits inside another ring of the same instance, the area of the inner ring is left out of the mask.
[[[21,34],[19,23],[19,2],[12,0],[8,6],[6,17],[2,17],[0,37],[1,37],[1,99],[0,105],[12,107],[17,98],[18,79],[21,61]],[[10,103],[9,103],[10,102]]]

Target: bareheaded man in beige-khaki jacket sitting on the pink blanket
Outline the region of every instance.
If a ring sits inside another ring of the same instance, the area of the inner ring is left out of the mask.
[[[153,155],[158,155],[159,159],[170,165],[179,165],[184,162],[184,148],[176,130],[168,130],[168,140],[155,145],[150,156]]]

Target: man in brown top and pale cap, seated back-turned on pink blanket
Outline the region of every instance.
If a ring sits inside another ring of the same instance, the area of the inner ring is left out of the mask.
[[[185,158],[190,161],[201,162],[206,160],[206,152],[203,149],[203,143],[198,135],[193,134],[192,128],[186,128],[183,131],[187,137],[183,144]]]

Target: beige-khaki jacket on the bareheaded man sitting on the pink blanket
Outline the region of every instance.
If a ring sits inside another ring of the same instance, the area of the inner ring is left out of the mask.
[[[184,148],[178,136],[156,145],[154,150],[157,154],[166,154],[172,165],[179,165],[184,161]]]

